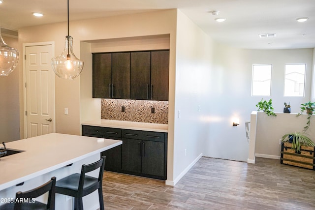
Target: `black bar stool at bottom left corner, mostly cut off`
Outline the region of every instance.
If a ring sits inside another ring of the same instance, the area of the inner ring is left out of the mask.
[[[52,177],[51,180],[35,189],[26,192],[19,191],[16,193],[15,202],[0,206],[0,210],[55,210],[55,185],[56,177]],[[48,191],[47,204],[34,200]]]

